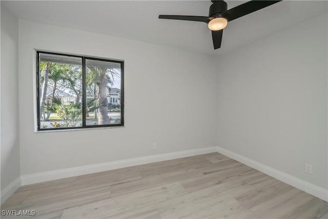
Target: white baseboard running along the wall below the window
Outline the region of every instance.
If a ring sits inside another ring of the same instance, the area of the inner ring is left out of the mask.
[[[141,164],[168,161],[176,158],[212,153],[216,151],[217,151],[216,147],[199,148],[199,149],[186,150],[186,151],[177,151],[171,153],[142,156],[142,157],[113,161],[108,163],[92,164],[92,165],[79,166],[79,167],[73,167],[67,169],[32,173],[32,174],[22,175],[22,185],[24,186],[33,183],[41,183],[51,180],[58,180],[60,178],[67,178],[67,177],[84,175],[89,173],[103,172],[103,171],[119,169],[124,167],[131,167]]]

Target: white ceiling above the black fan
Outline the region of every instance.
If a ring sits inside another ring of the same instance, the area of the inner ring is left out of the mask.
[[[246,1],[227,1],[228,9]],[[208,16],[211,1],[1,1],[14,15],[34,22],[222,54],[327,13],[326,1],[282,1],[230,22],[214,50],[201,22],[158,19],[159,14]]]

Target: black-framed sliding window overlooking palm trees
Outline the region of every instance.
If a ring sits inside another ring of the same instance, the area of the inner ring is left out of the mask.
[[[37,130],[124,125],[123,76],[122,61],[38,51]],[[110,90],[121,100],[115,110]]]

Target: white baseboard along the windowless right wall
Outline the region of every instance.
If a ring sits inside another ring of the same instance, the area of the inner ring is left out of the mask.
[[[226,155],[242,164],[250,166],[258,171],[261,171],[262,173],[265,173],[267,175],[270,175],[270,176],[276,178],[277,180],[280,180],[288,185],[298,188],[304,192],[310,193],[310,194],[328,202],[328,190],[327,189],[316,186],[312,183],[301,180],[300,178],[297,178],[290,174],[284,173],[282,171],[279,171],[279,170],[269,167],[267,165],[261,164],[254,160],[251,160],[250,158],[244,157],[244,156],[237,154],[235,152],[232,152],[230,150],[217,147],[217,152],[221,153],[223,155]]]

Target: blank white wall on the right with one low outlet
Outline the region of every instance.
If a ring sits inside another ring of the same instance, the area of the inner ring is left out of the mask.
[[[327,14],[219,56],[218,146],[326,189],[327,58]]]

